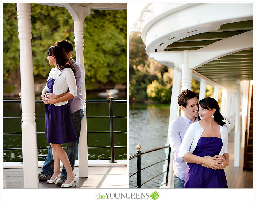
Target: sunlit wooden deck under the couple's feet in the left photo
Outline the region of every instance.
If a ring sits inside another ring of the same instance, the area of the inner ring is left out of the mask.
[[[42,168],[38,168],[40,171]],[[74,167],[74,173],[79,175],[78,167]],[[88,178],[79,178],[71,188],[128,188],[127,179],[127,166],[89,166]],[[23,168],[3,169],[3,188],[24,188]],[[60,186],[39,181],[39,188]]]

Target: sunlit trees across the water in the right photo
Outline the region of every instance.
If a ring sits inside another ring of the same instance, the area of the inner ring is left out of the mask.
[[[129,35],[129,99],[170,102],[173,69],[150,59],[138,32]]]

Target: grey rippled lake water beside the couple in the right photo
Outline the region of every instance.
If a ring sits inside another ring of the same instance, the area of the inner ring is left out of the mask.
[[[165,146],[167,142],[170,104],[129,104],[129,157],[136,154],[136,145],[141,152]],[[165,159],[164,149],[141,155],[141,168]],[[141,171],[141,184],[162,173],[160,162]],[[137,158],[129,161],[129,175],[137,170]],[[150,180],[141,188],[157,188],[163,181],[163,174]],[[129,178],[129,188],[136,188],[137,175]]]

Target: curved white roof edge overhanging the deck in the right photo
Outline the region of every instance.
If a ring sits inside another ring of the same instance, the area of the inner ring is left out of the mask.
[[[179,39],[253,19],[252,3],[152,3],[145,8],[141,38],[148,55]]]

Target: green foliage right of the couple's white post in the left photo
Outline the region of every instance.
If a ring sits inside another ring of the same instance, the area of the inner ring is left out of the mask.
[[[116,19],[116,20],[114,20]],[[127,12],[91,10],[84,27],[86,79],[127,83]]]

